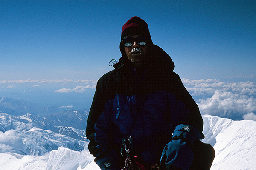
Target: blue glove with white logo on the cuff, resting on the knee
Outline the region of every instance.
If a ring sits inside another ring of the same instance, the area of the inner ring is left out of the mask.
[[[178,125],[173,132],[172,141],[163,150],[160,163],[168,170],[173,166],[189,170],[194,158],[191,146],[199,139],[204,139],[204,135],[197,128]]]

